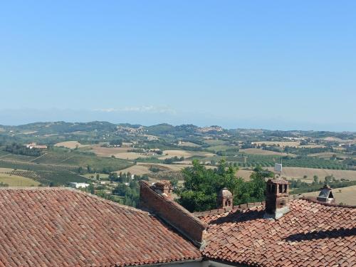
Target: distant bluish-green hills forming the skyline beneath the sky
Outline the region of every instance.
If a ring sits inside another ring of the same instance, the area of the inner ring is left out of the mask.
[[[263,130],[263,129],[224,129],[217,125],[210,127],[198,127],[196,125],[169,125],[167,123],[145,126],[132,125],[130,123],[111,123],[105,121],[93,122],[33,122],[25,125],[8,126],[0,125],[1,132],[19,132],[36,135],[51,135],[71,132],[131,132],[145,133],[147,135],[173,135],[174,137],[184,137],[187,135],[268,135],[276,137],[338,137],[341,139],[352,139],[356,137],[356,132],[328,132],[328,131],[300,131],[300,130]]]

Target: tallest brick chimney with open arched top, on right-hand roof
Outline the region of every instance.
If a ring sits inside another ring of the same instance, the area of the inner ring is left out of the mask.
[[[289,211],[289,183],[284,179],[268,179],[266,183],[266,219],[279,219]]]

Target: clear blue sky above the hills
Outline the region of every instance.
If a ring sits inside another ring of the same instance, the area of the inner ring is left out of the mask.
[[[0,124],[356,131],[356,1],[2,1]]]

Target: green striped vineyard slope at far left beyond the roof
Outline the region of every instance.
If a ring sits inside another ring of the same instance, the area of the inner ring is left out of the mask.
[[[33,179],[43,185],[88,182],[87,178],[80,175],[88,169],[91,172],[117,171],[133,165],[125,159],[97,157],[61,149],[49,150],[41,157],[14,155],[3,151],[0,155],[0,167],[14,169],[9,175]]]

